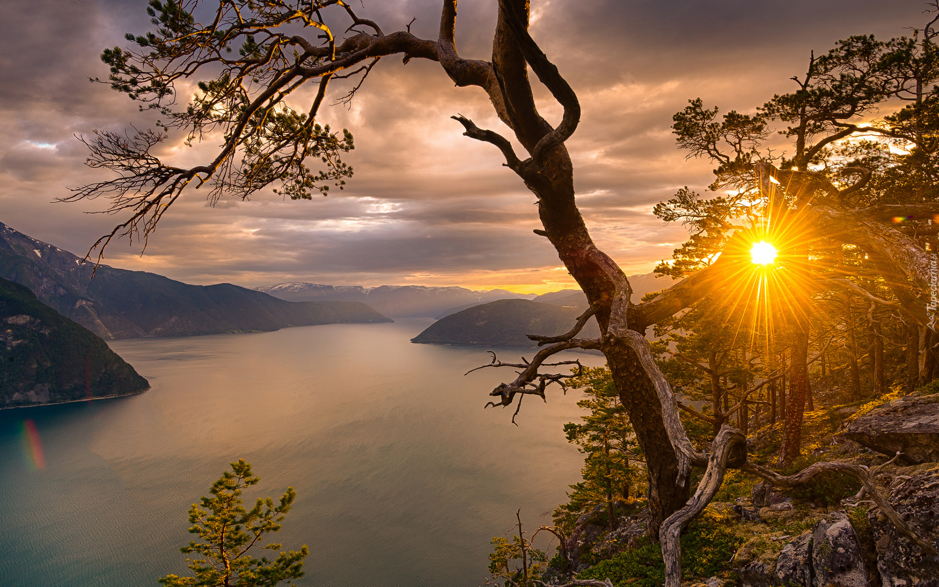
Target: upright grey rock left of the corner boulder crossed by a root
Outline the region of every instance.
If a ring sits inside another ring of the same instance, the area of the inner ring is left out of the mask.
[[[857,533],[843,512],[820,520],[812,532],[813,584],[867,587],[868,570]]]

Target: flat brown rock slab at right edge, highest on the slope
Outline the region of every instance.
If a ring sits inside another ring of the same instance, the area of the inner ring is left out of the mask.
[[[842,425],[840,436],[908,463],[939,461],[939,403],[901,397]]]

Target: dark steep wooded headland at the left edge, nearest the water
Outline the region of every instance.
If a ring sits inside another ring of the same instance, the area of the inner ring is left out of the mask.
[[[140,394],[150,388],[93,332],[0,278],[0,407]]]

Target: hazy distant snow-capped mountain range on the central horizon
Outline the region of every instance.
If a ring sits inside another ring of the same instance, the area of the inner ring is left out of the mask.
[[[466,287],[323,286],[304,282],[288,282],[254,289],[289,301],[362,301],[391,317],[437,317],[448,313],[448,310],[456,311],[456,308],[463,309],[486,301],[534,297],[529,294],[516,294],[507,289],[473,291]]]

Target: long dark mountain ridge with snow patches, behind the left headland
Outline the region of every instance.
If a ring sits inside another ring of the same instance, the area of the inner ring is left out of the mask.
[[[145,271],[94,266],[0,223],[0,277],[101,338],[275,331],[388,322],[360,301],[291,302],[233,286],[191,286]]]

